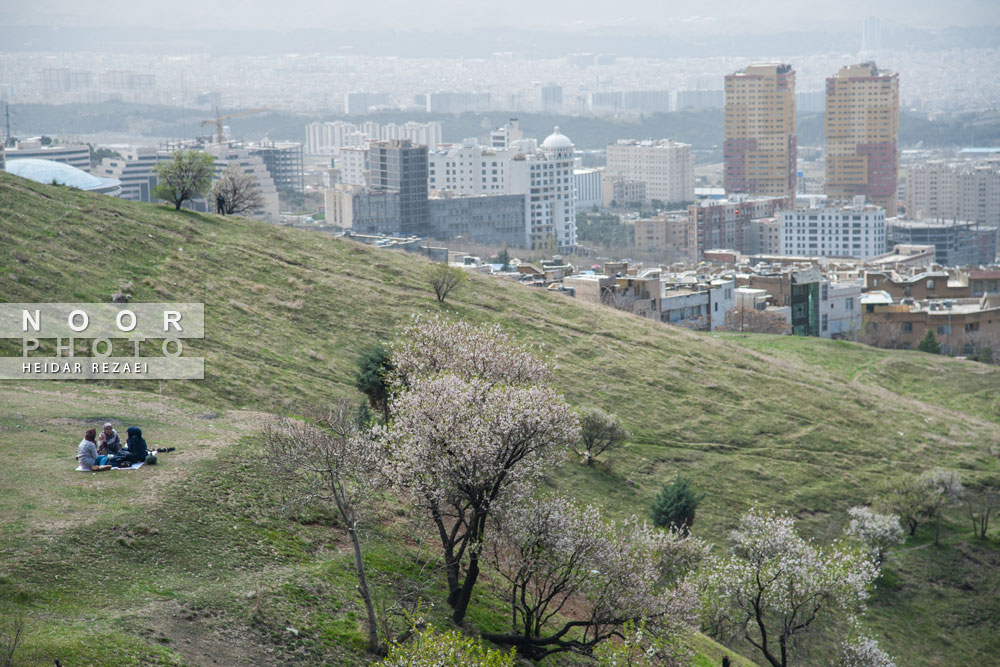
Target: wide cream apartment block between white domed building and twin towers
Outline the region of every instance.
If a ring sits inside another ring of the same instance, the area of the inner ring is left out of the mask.
[[[694,158],[691,145],[661,141],[619,140],[607,147],[611,179],[646,184],[646,199],[664,203],[694,199]]]

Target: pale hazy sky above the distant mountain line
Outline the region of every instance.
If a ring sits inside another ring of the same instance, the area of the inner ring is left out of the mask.
[[[571,13],[570,13],[571,12]],[[917,28],[1000,24],[998,0],[2,0],[0,24],[79,27],[394,29],[482,26],[662,31],[833,29],[865,16]],[[2,46],[0,46],[2,50]]]

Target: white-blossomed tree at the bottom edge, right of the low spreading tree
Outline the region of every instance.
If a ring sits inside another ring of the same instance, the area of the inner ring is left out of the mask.
[[[709,561],[702,611],[720,635],[748,641],[774,667],[816,626],[841,628],[864,611],[878,567],[860,550],[822,549],[787,516],[751,510],[732,532],[732,553]]]

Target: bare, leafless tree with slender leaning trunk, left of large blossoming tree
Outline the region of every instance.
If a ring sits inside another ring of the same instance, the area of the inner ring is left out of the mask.
[[[362,557],[360,531],[382,484],[381,455],[369,433],[354,426],[354,410],[340,401],[309,421],[284,419],[264,433],[268,459],[298,502],[331,505],[354,550],[358,594],[365,605],[368,650],[384,652]]]

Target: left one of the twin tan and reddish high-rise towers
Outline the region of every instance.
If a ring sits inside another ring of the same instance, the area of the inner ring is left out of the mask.
[[[726,75],[726,193],[795,199],[795,70],[757,64]]]

